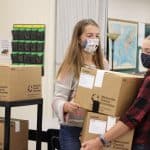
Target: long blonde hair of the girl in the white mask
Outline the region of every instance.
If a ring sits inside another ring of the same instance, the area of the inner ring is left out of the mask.
[[[75,25],[70,45],[67,49],[64,61],[58,70],[57,77],[59,75],[65,75],[68,72],[74,72],[75,77],[79,78],[80,69],[84,65],[82,47],[79,40],[87,25],[93,25],[99,28],[99,25],[92,19],[83,19]],[[97,68],[104,69],[103,53],[100,43],[95,55],[93,55],[93,61]]]

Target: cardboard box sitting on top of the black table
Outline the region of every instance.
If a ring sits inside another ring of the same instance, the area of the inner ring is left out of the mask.
[[[0,101],[41,97],[40,66],[0,66]]]

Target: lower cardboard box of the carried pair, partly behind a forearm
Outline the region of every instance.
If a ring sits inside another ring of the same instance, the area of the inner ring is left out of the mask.
[[[99,134],[104,134],[115,125],[117,117],[88,112],[85,117],[81,142],[95,138]],[[111,142],[111,146],[104,150],[131,150],[134,130]]]

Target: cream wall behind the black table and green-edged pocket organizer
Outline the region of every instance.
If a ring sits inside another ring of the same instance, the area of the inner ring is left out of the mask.
[[[55,58],[55,0],[0,0],[0,39],[11,40],[13,24],[46,24],[45,76],[43,82],[44,112],[43,130],[51,125],[51,99],[53,95],[53,70]],[[0,110],[1,115],[4,109]],[[13,108],[12,117],[29,119],[30,128],[36,128],[36,108]],[[34,150],[30,142],[29,150]],[[42,150],[46,149],[46,145]]]

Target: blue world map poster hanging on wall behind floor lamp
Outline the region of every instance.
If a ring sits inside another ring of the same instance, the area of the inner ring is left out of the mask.
[[[119,35],[118,38],[114,40],[114,47],[112,47],[112,39],[109,37],[108,54],[110,67],[113,63],[113,70],[136,69],[138,23],[109,19],[108,33]],[[111,61],[112,55],[113,61]]]

